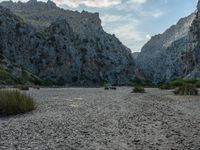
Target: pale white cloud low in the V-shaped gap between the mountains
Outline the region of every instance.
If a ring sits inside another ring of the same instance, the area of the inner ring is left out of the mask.
[[[142,45],[149,40],[146,33],[138,28],[142,24],[141,20],[135,19],[131,14],[103,15],[101,20],[104,29],[115,34],[133,52],[140,51]]]

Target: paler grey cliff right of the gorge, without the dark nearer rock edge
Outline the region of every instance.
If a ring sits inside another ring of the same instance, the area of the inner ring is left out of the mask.
[[[166,82],[185,75],[183,57],[187,51],[189,30],[195,13],[182,18],[163,34],[153,36],[137,57],[137,67],[154,83]]]

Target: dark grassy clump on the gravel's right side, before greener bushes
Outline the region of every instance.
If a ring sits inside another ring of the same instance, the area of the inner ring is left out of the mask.
[[[195,85],[186,84],[184,86],[178,87],[174,91],[175,95],[198,95],[198,90]]]

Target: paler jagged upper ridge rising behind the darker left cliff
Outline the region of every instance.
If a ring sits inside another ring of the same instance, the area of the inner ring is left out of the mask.
[[[82,13],[64,10],[56,6],[52,1],[37,2],[30,0],[27,3],[4,1],[1,6],[9,8],[16,15],[23,18],[27,23],[33,25],[36,29],[49,27],[57,19],[65,19],[70,24],[73,32],[80,35],[94,35],[94,31],[102,31],[101,20],[98,13]]]

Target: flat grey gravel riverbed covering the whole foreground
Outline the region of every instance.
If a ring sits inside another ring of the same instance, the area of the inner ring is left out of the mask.
[[[0,150],[200,150],[200,96],[131,90],[30,89],[38,107],[0,118]]]

